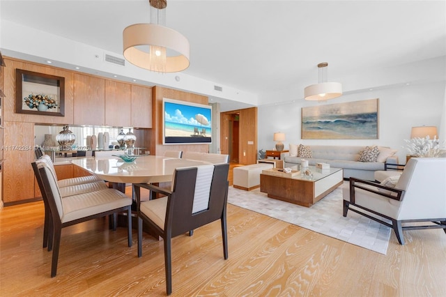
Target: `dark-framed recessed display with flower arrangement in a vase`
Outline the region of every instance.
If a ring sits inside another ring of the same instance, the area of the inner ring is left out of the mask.
[[[65,78],[15,70],[15,112],[18,114],[65,115]]]

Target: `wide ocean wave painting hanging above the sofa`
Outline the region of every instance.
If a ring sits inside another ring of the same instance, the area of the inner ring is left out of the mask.
[[[378,99],[302,107],[302,139],[378,139]]]

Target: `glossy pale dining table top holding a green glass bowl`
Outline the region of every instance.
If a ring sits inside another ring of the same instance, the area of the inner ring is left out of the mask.
[[[124,162],[114,157],[101,159],[86,157],[72,160],[72,164],[113,183],[160,183],[171,181],[174,169],[178,167],[210,163],[199,160],[145,155],[133,162]]]

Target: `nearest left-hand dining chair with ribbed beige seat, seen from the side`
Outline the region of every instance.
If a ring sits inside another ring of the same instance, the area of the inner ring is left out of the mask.
[[[53,170],[46,162],[33,162],[36,179],[43,194],[45,208],[49,208],[48,250],[52,250],[51,277],[56,276],[61,231],[63,227],[78,224],[126,211],[128,215],[128,246],[132,246],[132,199],[114,189],[98,190],[62,199],[59,185]]]

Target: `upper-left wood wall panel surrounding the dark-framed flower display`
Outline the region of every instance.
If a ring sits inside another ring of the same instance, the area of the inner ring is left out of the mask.
[[[4,68],[4,86],[6,100],[3,110],[5,121],[20,121],[30,123],[73,123],[73,77],[68,70],[60,68],[41,66],[36,63],[24,62],[7,58],[8,67]],[[65,78],[65,116],[42,116],[40,114],[17,114],[15,113],[15,70],[29,70],[36,73],[45,73]]]

